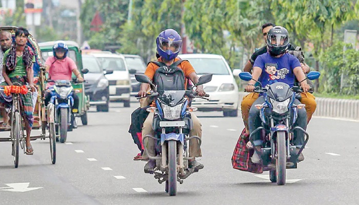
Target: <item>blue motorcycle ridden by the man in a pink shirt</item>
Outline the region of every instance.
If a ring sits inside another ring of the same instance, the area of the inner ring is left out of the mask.
[[[77,128],[75,115],[72,113],[74,104],[73,95],[77,92],[74,90],[70,80],[47,80],[47,82],[55,83],[47,92],[51,94],[49,104],[55,107],[55,130],[56,141],[66,142],[67,132]],[[72,83],[78,83],[73,81]],[[59,138],[58,138],[59,134]]]

